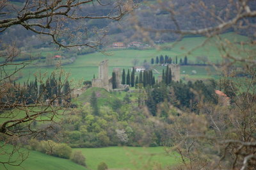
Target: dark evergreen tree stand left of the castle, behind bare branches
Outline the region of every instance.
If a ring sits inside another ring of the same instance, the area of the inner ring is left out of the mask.
[[[53,75],[45,82],[40,81],[35,77],[34,81],[24,82],[23,85],[16,82],[8,84],[9,95],[0,98],[2,104],[38,104],[46,100],[56,100],[58,104],[62,102],[71,102],[71,89],[68,80],[63,82],[61,77],[56,79]]]

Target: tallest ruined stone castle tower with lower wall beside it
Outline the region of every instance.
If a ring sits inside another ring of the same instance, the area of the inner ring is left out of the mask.
[[[116,75],[116,89],[129,89],[129,85],[121,84],[121,70],[120,68],[113,68]],[[97,79],[92,79],[92,87],[104,88],[107,91],[113,90],[112,77],[108,77],[108,59],[101,61],[99,64],[99,75]]]

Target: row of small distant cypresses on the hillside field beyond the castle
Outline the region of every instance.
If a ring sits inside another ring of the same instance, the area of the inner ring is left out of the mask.
[[[179,59],[178,61],[178,57],[175,56],[175,59],[172,59],[169,56],[163,56],[160,55],[159,57],[156,56],[156,60],[154,60],[154,58],[151,58],[151,64],[154,65],[154,63],[156,63],[156,65],[158,64],[180,64],[180,65],[188,65],[188,57],[184,56],[184,59],[182,60],[182,58]]]

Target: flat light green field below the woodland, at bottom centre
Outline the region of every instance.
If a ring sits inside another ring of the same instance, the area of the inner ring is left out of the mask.
[[[108,147],[108,148],[76,148],[86,157],[88,169],[97,169],[100,162],[105,162],[109,169],[149,169],[156,164],[172,166],[179,164],[175,154],[167,155],[164,147]],[[177,155],[176,155],[177,156]]]

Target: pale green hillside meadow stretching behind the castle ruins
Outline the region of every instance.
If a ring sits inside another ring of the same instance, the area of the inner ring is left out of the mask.
[[[220,36],[224,41],[230,42],[241,42],[247,41],[248,38],[246,36],[237,35],[236,33],[225,33]],[[112,50],[107,51],[109,55],[102,54],[101,52],[94,52],[92,54],[86,54],[78,56],[76,61],[70,65],[62,66],[62,68],[66,72],[70,72],[70,79],[74,79],[74,81],[78,82],[79,80],[91,80],[93,78],[93,74],[97,77],[98,74],[98,65],[99,62],[108,59],[109,60],[109,76],[114,67],[125,68],[126,72],[128,68],[131,68],[132,60],[138,59],[138,66],[142,65],[144,60],[147,60],[150,63],[151,58],[156,58],[161,54],[168,55],[173,59],[175,56],[178,56],[178,61],[180,58],[184,59],[184,56],[188,56],[189,63],[198,63],[198,59],[196,57],[207,57],[211,63],[220,63],[221,62],[221,52],[218,49],[218,43],[220,40],[218,38],[211,38],[207,40],[204,37],[191,37],[191,38],[183,38],[180,42],[176,43],[166,43],[161,45],[162,49],[147,49],[147,50]],[[44,51],[45,52],[45,51]],[[44,53],[42,52],[42,54]],[[34,61],[34,63],[36,63]],[[163,67],[157,66],[157,70],[161,73]],[[13,70],[13,66],[6,67],[6,70]],[[26,68],[22,69],[21,74],[23,77],[19,79],[19,82],[27,81],[29,78],[33,79],[33,75],[35,73],[45,73],[47,72],[48,75],[54,70],[54,66],[36,66],[36,65],[28,65]],[[190,70],[189,70],[190,69]],[[186,71],[182,77],[190,77],[192,79],[204,79],[205,77],[216,77],[216,73],[213,75],[208,75],[209,72],[205,70],[204,66],[193,66],[186,67],[182,66],[181,71]],[[196,70],[196,74],[192,75],[188,72],[192,70]],[[212,68],[210,69],[212,70]],[[183,72],[182,72],[183,73]],[[157,73],[155,73],[157,75]]]

